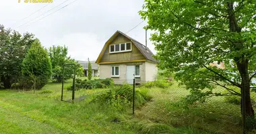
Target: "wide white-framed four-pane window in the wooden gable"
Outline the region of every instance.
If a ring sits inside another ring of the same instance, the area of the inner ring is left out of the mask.
[[[129,52],[129,51],[131,51],[131,42],[110,45],[109,47],[110,47],[110,49],[109,49],[110,53]]]

